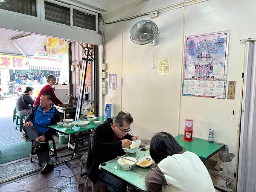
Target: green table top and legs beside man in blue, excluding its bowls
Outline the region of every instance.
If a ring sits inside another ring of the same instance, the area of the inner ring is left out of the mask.
[[[96,120],[101,121],[100,124],[102,124],[104,122],[104,116],[99,116]],[[84,119],[83,120],[78,120],[78,121],[73,121],[73,122],[79,122],[79,121],[84,121]],[[74,143],[75,143],[75,146],[73,148],[73,153],[72,153],[71,158],[69,160],[66,160],[66,161],[71,161],[71,160],[73,160],[75,152],[77,152],[79,160],[81,160],[81,156],[80,156],[80,153],[79,153],[79,150],[78,150],[78,141],[79,141],[79,138],[81,136],[81,132],[92,130],[92,129],[96,128],[96,126],[97,125],[94,122],[90,122],[84,128],[80,128],[78,125],[74,125],[73,128],[71,128],[71,129],[66,129],[66,128],[60,127],[58,125],[51,125],[51,126],[48,126],[48,128],[50,128],[54,131],[57,131],[59,133],[62,133],[64,135],[71,135],[73,137],[73,140],[74,140]],[[76,133],[78,133],[77,136],[76,136]]]

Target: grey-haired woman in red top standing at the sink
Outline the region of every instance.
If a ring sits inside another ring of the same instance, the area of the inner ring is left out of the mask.
[[[52,95],[52,103],[54,105],[58,105],[61,107],[65,107],[67,104],[62,103],[55,95],[54,89],[52,88],[53,85],[55,85],[56,83],[56,77],[54,75],[49,75],[47,77],[47,84],[41,89],[41,91],[38,94],[38,97],[36,98],[33,107],[35,107],[36,105],[39,104],[39,99],[41,97],[41,95],[43,95],[44,93],[50,93]]]

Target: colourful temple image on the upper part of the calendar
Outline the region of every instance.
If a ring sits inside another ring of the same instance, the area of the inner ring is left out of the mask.
[[[227,34],[186,38],[185,79],[224,79]]]

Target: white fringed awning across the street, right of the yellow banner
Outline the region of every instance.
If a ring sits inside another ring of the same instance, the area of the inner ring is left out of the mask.
[[[31,70],[47,70],[47,71],[61,71],[61,64],[55,59],[36,59],[28,58],[29,69]]]

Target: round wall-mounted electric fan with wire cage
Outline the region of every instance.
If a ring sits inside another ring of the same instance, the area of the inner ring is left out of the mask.
[[[130,38],[135,44],[145,45],[153,41],[159,33],[157,24],[151,20],[140,20],[130,31]]]

